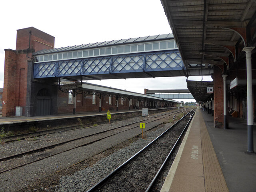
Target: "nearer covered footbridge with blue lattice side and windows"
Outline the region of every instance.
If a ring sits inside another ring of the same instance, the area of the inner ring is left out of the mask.
[[[41,50],[34,54],[34,78],[101,80],[210,75],[187,72],[172,34],[112,40]]]

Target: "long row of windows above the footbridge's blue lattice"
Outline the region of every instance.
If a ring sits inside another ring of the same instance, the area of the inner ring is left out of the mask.
[[[151,50],[163,50],[163,49],[172,49],[177,48],[177,45],[174,41],[163,41],[156,43],[146,43],[138,45],[126,45],[118,46],[112,48],[102,48],[102,49],[92,49],[86,51],[74,51],[60,54],[51,54],[36,57],[36,61],[51,61],[51,60],[62,60],[62,59],[71,59],[71,58],[83,58],[83,57],[92,57],[100,55],[110,55],[110,54],[122,54],[129,52],[142,52],[142,51],[151,51]]]

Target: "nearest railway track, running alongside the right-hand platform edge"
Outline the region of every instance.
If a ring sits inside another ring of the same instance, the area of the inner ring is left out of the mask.
[[[194,110],[184,115],[182,119],[87,192],[151,191],[160,172],[170,156],[172,156],[172,152],[192,119],[193,114]],[[174,132],[179,132],[179,134],[174,136]]]

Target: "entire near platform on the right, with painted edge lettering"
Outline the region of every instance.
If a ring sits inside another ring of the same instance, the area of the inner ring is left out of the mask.
[[[229,129],[218,129],[197,108],[161,192],[255,192],[256,154],[246,151],[246,120],[230,116]]]

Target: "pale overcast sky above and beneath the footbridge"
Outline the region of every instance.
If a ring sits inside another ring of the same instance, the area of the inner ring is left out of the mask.
[[[42,30],[55,37],[56,48],[172,33],[160,0],[10,0],[2,1],[1,7],[0,88],[4,80],[4,49],[15,50],[17,29],[33,26]],[[203,80],[212,79],[206,76]],[[144,93],[144,88],[187,89],[186,77],[90,83],[139,93]]]

